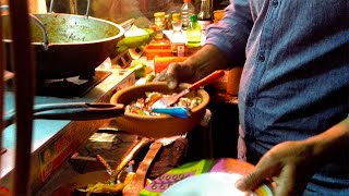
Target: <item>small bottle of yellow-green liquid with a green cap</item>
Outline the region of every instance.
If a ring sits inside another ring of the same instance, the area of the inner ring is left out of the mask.
[[[190,22],[186,28],[188,48],[201,46],[201,26],[197,23],[197,16],[192,14],[189,16]]]

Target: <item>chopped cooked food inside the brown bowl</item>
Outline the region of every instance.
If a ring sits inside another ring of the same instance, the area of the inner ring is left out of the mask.
[[[141,115],[161,115],[159,113],[152,112],[152,106],[159,100],[165,95],[158,91],[147,91],[145,93],[145,97],[139,98],[135,101],[132,101],[130,105],[125,107],[125,111],[130,113],[136,113]],[[194,97],[181,97],[173,107],[186,107],[189,109],[193,109],[202,102],[202,98],[194,96]]]

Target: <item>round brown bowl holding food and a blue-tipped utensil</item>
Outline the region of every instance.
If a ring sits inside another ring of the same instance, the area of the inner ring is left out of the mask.
[[[148,83],[144,85],[131,86],[117,91],[110,99],[111,103],[129,105],[137,98],[145,97],[146,91],[159,91],[163,94],[179,93],[189,84],[181,84],[174,90],[167,87],[166,83]],[[192,109],[192,114],[188,119],[173,118],[170,115],[145,117],[125,112],[124,115],[115,118],[110,124],[119,130],[145,137],[170,137],[184,134],[200,124],[203,120],[209,95],[204,89],[191,91],[188,96],[200,96],[203,101]]]

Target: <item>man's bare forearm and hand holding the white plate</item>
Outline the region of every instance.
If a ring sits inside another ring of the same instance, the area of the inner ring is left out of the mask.
[[[348,155],[348,149],[349,118],[320,135],[275,146],[236,186],[251,191],[265,179],[272,179],[276,185],[275,195],[301,195],[316,170],[333,157]]]

